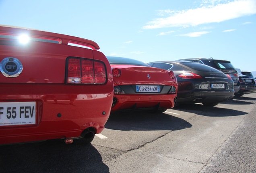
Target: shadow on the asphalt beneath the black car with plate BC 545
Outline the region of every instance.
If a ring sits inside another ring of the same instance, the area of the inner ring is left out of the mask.
[[[231,103],[233,101],[221,102]],[[232,104],[232,103],[231,103]],[[178,111],[184,111],[189,113],[194,113],[197,115],[207,116],[207,117],[231,117],[248,114],[244,111],[237,111],[234,109],[222,108],[222,107],[209,107],[202,104],[182,104],[179,107],[175,108]]]

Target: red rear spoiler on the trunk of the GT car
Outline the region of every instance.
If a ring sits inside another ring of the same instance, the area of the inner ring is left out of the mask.
[[[20,35],[26,34],[34,41],[55,42],[58,44],[78,44],[89,47],[93,50],[99,50],[99,45],[85,38],[75,36],[68,36],[64,34],[57,34],[53,32],[46,32],[42,30],[34,30],[28,28],[21,28],[16,26],[0,25],[0,38],[17,39]]]

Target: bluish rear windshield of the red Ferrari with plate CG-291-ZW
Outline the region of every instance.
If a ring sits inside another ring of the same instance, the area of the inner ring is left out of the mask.
[[[107,60],[109,61],[110,64],[149,66],[148,64],[145,64],[144,62],[130,59],[130,58],[107,56]]]

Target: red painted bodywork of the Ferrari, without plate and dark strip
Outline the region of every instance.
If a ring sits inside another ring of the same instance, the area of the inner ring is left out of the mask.
[[[111,64],[111,63],[110,63]],[[148,66],[111,64],[112,69],[121,71],[119,77],[113,76],[114,86],[160,85],[178,89],[176,77],[170,78],[167,70]],[[149,75],[149,77],[148,77]],[[154,109],[155,107],[169,109],[174,107],[177,93],[131,93],[114,94],[117,100],[111,112],[129,109]],[[134,106],[136,105],[136,106]]]

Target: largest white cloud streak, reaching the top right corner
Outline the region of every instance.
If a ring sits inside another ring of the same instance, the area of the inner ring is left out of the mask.
[[[234,0],[226,4],[213,4],[182,11],[161,10],[161,13],[169,16],[156,18],[143,28],[190,27],[252,15],[256,14],[256,0]]]

